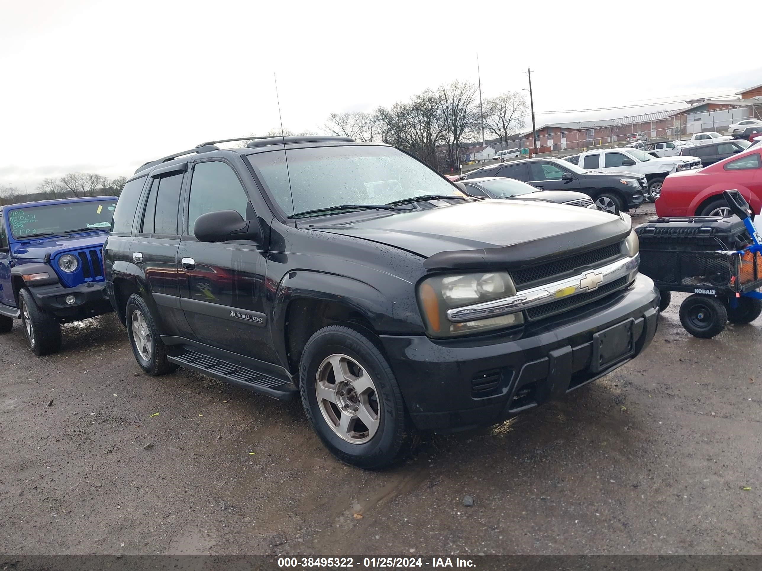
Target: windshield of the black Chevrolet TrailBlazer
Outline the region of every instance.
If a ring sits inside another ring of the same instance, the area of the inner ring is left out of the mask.
[[[463,198],[452,183],[392,147],[295,148],[247,158],[287,215],[426,195]]]

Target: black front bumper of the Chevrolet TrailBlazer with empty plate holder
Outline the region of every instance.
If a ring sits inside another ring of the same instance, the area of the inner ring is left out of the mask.
[[[594,304],[473,340],[381,340],[419,429],[490,425],[602,377],[634,359],[656,333],[659,293],[647,276]]]

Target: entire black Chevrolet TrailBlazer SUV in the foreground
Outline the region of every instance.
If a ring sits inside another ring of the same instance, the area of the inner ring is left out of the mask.
[[[286,137],[152,161],[107,290],[149,375],[299,396],[338,458],[498,423],[634,358],[658,290],[626,215],[465,196],[389,145]]]

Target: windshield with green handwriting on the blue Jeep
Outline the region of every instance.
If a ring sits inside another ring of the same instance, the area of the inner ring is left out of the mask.
[[[37,234],[66,235],[75,230],[108,231],[116,206],[113,199],[26,206],[9,210],[8,224],[17,240]]]

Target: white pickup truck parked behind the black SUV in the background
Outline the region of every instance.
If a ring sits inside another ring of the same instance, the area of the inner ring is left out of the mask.
[[[695,157],[656,158],[637,148],[600,148],[579,155],[578,166],[592,172],[617,171],[645,176],[648,182],[647,198],[652,202],[661,193],[661,183],[668,174],[701,168],[701,160]]]

